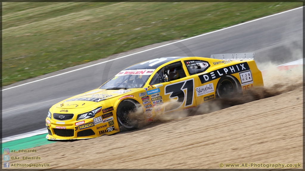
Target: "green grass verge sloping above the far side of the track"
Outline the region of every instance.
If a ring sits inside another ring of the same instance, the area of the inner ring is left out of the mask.
[[[2,86],[302,2],[3,2]]]

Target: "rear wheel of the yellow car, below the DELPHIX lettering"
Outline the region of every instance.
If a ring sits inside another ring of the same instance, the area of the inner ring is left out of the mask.
[[[238,80],[232,75],[224,75],[217,83],[216,94],[219,98],[234,98],[241,92]]]

